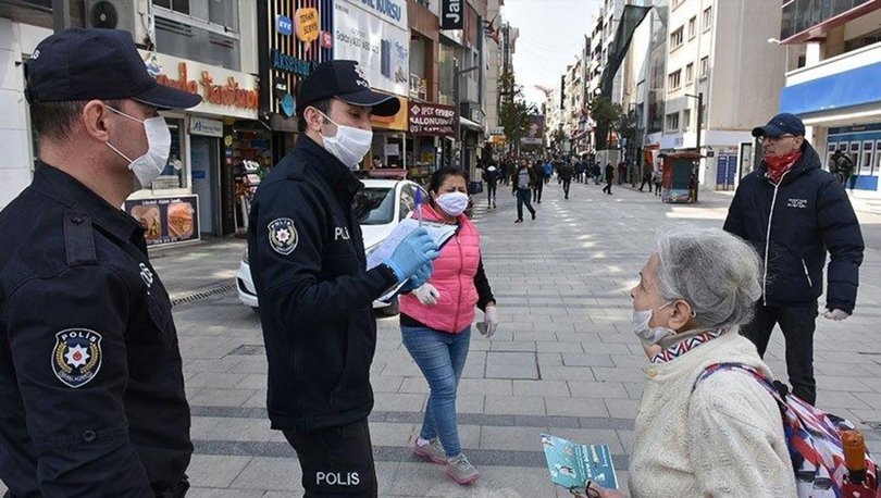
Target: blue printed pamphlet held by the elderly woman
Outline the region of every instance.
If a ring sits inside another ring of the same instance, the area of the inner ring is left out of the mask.
[[[579,445],[561,437],[542,434],[550,481],[567,489],[584,489],[587,481],[618,489],[618,477],[607,445]]]

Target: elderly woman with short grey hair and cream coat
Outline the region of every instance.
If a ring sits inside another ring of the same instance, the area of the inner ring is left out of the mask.
[[[772,378],[737,326],[761,295],[759,258],[721,229],[680,225],[662,235],[631,290],[634,333],[650,364],[630,457],[634,497],[787,497],[795,476],[780,409],[750,374]],[[587,495],[624,496],[590,486]]]

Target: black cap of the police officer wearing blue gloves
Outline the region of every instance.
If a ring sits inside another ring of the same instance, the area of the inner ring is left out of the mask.
[[[311,103],[333,97],[352,105],[373,108],[371,113],[377,116],[393,116],[400,110],[397,97],[370,89],[356,61],[325,61],[317,65],[299,83],[297,107],[305,110]]]

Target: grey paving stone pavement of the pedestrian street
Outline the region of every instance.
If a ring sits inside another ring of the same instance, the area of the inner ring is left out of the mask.
[[[542,432],[609,445],[626,482],[646,363],[631,332],[629,289],[658,229],[675,222],[721,226],[731,195],[702,192],[697,204],[670,206],[629,186],[613,187],[612,196],[600,188],[573,184],[564,200],[551,182],[537,220],[522,224],[513,224],[508,187],[499,188],[497,209],[477,196],[474,219],[504,324],[492,340],[473,335],[459,391],[462,446],[482,474],[476,484],[459,486],[410,453],[427,386],[400,343],[397,319],[379,320],[370,421],[380,496],[570,496],[548,480]],[[881,215],[859,214],[867,240],[881,240]],[[190,497],[302,494],[295,453],[265,416],[259,316],[228,290],[244,247],[231,238],[151,253],[178,302],[196,446]],[[818,319],[816,337],[819,407],[860,422],[874,449],[881,449],[878,249],[866,252],[856,314],[842,323]],[[766,360],[784,374],[779,332],[771,343]]]

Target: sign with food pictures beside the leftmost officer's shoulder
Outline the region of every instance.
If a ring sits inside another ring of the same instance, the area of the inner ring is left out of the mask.
[[[125,201],[125,212],[146,231],[148,246],[199,240],[199,196],[153,197]]]

